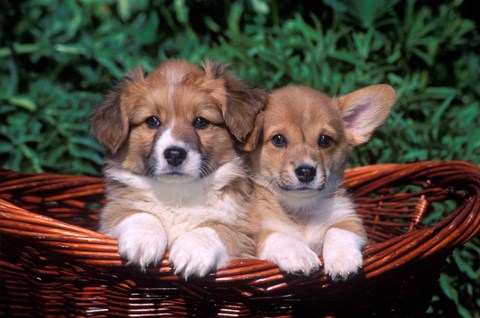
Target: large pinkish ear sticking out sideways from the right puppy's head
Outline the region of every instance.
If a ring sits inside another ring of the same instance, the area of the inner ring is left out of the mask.
[[[336,98],[350,142],[356,146],[367,142],[385,122],[396,94],[389,85],[372,85]]]

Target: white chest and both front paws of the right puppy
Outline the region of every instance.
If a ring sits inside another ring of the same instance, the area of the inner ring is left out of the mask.
[[[365,244],[363,237],[335,227],[349,219],[357,216],[348,197],[309,202],[308,208],[290,211],[288,217],[272,214],[262,224],[273,233],[263,242],[259,257],[275,262],[284,272],[309,275],[319,268],[317,255],[323,254],[325,272],[334,279],[346,279],[362,266]]]

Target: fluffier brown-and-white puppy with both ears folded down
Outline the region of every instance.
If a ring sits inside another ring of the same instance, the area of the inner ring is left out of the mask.
[[[129,263],[144,269],[168,248],[175,273],[201,277],[254,254],[245,200],[253,185],[239,149],[255,136],[266,94],[224,68],[137,68],[91,116],[109,152],[100,231]]]

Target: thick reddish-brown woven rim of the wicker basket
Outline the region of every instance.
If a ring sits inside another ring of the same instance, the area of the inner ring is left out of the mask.
[[[345,172],[347,189],[362,196],[378,189],[380,184],[391,183],[399,178],[417,180],[428,175],[440,184],[462,184],[468,191],[468,198],[449,216],[437,224],[416,229],[401,236],[380,243],[372,243],[363,250],[364,267],[362,275],[371,279],[385,272],[438,253],[449,254],[480,232],[480,168],[464,161],[422,161],[416,163],[388,163],[349,168]],[[53,195],[45,200],[74,199],[76,196],[101,195],[104,191],[103,178],[61,174],[19,173],[0,170],[2,176],[18,176],[1,183],[0,194],[16,190],[25,182],[39,189],[54,189],[59,183],[75,185],[79,193]],[[48,179],[48,182],[42,180]],[[381,181],[381,182],[380,182]],[[443,182],[443,183],[442,183]],[[427,185],[428,186],[428,185]],[[28,199],[28,198],[27,198]],[[118,254],[117,241],[104,234],[65,223],[47,216],[27,211],[0,198],[0,234],[35,239],[54,253],[73,257],[77,263],[102,268],[123,268],[125,262]],[[431,244],[435,243],[435,244]],[[433,246],[433,247],[432,247]],[[147,269],[162,280],[178,281],[168,264],[168,252],[160,264]],[[272,262],[259,259],[231,260],[224,269],[209,274],[205,279],[218,283],[248,280],[252,286],[279,281],[282,287],[285,277]],[[310,277],[328,281],[323,270]],[[271,287],[272,288],[272,287]]]

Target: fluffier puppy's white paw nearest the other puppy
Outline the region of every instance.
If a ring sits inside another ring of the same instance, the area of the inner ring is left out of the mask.
[[[203,277],[223,267],[227,261],[225,246],[218,234],[208,227],[180,235],[170,249],[170,263],[175,268],[175,274],[185,279]]]

